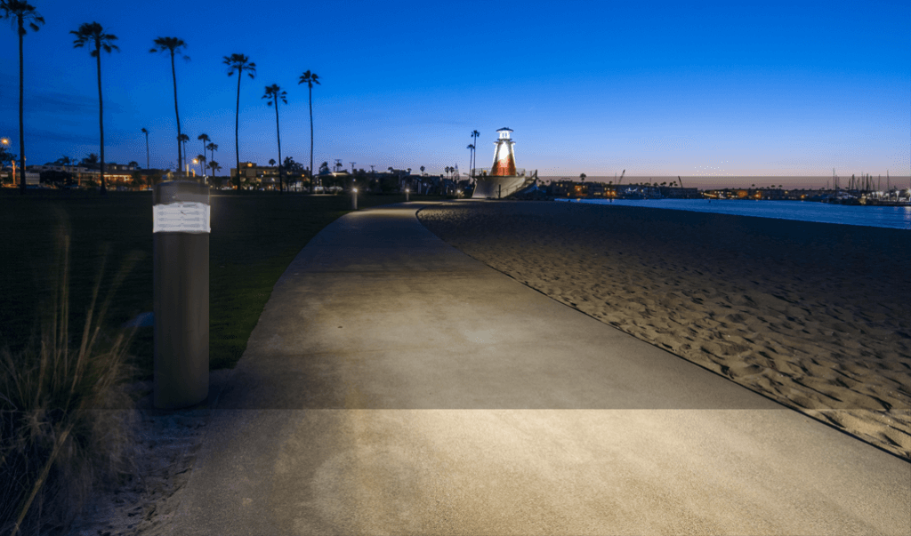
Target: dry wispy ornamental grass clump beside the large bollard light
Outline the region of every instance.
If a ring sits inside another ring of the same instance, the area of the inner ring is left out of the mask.
[[[138,260],[131,255],[97,308],[105,263],[81,339],[71,337],[69,233],[57,233],[53,303],[42,308],[40,337],[0,350],[0,533],[65,531],[93,489],[116,484],[132,467],[132,399],[127,380],[135,328],[107,334],[105,313]],[[107,253],[104,258],[107,258]],[[36,329],[37,330],[37,329]]]

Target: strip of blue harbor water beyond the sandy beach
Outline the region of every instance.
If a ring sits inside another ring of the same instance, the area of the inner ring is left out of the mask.
[[[566,202],[565,199],[559,199]],[[618,207],[667,208],[736,216],[774,217],[797,221],[837,223],[876,228],[911,229],[911,207],[851,207],[812,201],[757,201],[732,199],[581,199],[573,203]]]

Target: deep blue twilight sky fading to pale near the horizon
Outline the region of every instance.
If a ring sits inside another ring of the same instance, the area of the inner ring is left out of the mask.
[[[182,130],[234,162],[237,78],[222,56],[256,62],[241,82],[241,160],[277,159],[264,86],[288,92],[282,157],[309,163],[305,70],[313,90],[314,163],[468,168],[481,132],[515,130],[518,167],[541,176],[911,175],[911,5],[901,2],[64,2],[25,38],[26,157],[45,163],[98,150],[94,58],[70,30],[97,21],[118,35],[102,57],[106,159],[177,162],[167,56],[177,64]],[[18,50],[0,23],[0,136],[18,153]],[[723,177],[717,180],[724,183]]]

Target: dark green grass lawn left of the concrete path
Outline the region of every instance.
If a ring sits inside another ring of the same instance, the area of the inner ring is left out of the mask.
[[[440,199],[416,197],[412,200]],[[404,196],[362,196],[359,207],[404,201]],[[322,228],[351,207],[350,196],[236,193],[211,197],[210,368],[232,368],[247,347],[272,287],[294,256]],[[70,326],[81,339],[95,281],[101,298],[129,258],[138,258],[108,309],[105,325],[117,329],[152,310],[152,210],[148,192],[29,192],[0,194],[0,346],[22,348],[53,311],[56,228],[69,228]],[[107,262],[102,268],[107,244]],[[152,329],[138,329],[131,353],[139,376],[151,379]]]

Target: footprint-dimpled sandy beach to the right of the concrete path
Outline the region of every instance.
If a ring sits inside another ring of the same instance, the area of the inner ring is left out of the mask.
[[[911,460],[911,233],[557,202],[425,208],[570,307]]]

